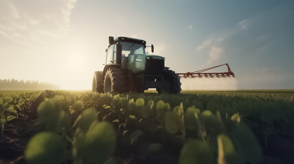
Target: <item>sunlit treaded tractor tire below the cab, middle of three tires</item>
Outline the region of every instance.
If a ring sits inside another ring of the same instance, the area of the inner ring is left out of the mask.
[[[109,68],[104,77],[104,93],[124,93],[127,91],[126,72],[120,68]]]

